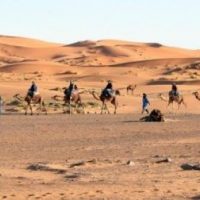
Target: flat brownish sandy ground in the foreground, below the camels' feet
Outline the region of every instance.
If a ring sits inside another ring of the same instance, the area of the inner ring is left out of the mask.
[[[0,116],[0,199],[200,199],[200,172],[180,168],[199,162],[200,115],[140,117]]]

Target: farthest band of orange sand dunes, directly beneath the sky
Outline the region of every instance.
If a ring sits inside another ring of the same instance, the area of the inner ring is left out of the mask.
[[[10,59],[35,59],[62,62],[72,66],[123,65],[136,61],[199,58],[199,51],[166,47],[158,43],[134,43],[118,40],[83,41],[58,45],[42,41],[0,37],[0,56]],[[183,63],[182,61],[182,63]],[[160,61],[162,64],[162,62]],[[176,62],[175,62],[176,63]],[[181,62],[180,62],[181,63]],[[144,63],[145,64],[145,63]]]

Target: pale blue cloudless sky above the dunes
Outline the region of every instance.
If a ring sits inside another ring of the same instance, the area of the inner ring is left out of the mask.
[[[200,0],[1,0],[0,35],[200,49]]]

